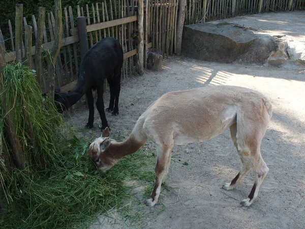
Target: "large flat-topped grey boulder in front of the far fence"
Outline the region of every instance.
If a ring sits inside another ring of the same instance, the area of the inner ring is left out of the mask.
[[[231,63],[256,39],[252,31],[226,22],[186,25],[182,35],[182,54],[202,61]]]

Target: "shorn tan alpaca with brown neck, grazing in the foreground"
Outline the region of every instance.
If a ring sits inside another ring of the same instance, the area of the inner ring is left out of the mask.
[[[169,92],[146,109],[125,141],[111,141],[106,128],[102,136],[92,142],[88,154],[99,169],[107,171],[120,158],[136,152],[147,139],[155,142],[156,183],[151,198],[145,201],[145,205],[154,206],[168,173],[172,147],[205,141],[230,128],[242,166],[223,188],[235,188],[253,169],[256,174],[253,188],[248,198],[240,203],[250,206],[269,170],[261,157],[260,145],[271,116],[267,98],[247,88],[211,86]]]

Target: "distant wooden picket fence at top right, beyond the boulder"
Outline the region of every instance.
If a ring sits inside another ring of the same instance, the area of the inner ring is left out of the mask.
[[[304,10],[304,0],[187,0],[186,24],[245,14]]]

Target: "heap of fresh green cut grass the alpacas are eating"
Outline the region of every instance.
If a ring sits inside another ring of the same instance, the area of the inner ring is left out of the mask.
[[[145,185],[154,179],[145,171],[155,157],[145,149],[129,155],[102,174],[86,154],[89,142],[69,132],[49,98],[41,96],[36,77],[20,64],[5,69],[4,92],[14,110],[17,136],[25,153],[25,168],[7,173],[3,152],[6,138],[0,113],[2,144],[1,185],[9,201],[8,213],[0,216],[1,228],[84,227],[111,208],[122,208],[132,198],[126,181]],[[28,128],[35,140],[30,142]],[[31,144],[29,144],[31,143]],[[41,160],[37,162],[35,155]]]

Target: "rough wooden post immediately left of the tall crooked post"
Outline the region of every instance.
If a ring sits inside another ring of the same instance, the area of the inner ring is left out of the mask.
[[[40,86],[42,86],[42,81],[41,81],[41,72],[42,72],[41,53],[42,53],[42,39],[43,39],[45,16],[46,16],[46,8],[39,7],[37,37],[36,37],[36,43],[35,43],[35,47],[36,47],[35,48],[35,64],[36,64],[37,81],[38,81]]]

